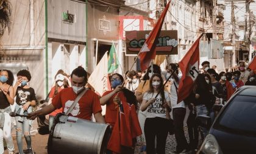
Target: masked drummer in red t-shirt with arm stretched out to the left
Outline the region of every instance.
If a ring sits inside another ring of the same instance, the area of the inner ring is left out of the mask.
[[[87,83],[87,72],[84,68],[79,66],[74,69],[71,73],[71,83],[71,88],[65,88],[60,91],[60,93],[52,99],[51,104],[41,110],[30,113],[28,118],[35,119],[37,116],[51,113],[56,108],[63,108],[64,112],[68,111],[68,108],[72,105],[78,94],[83,91]],[[79,117],[80,119],[90,121],[92,114],[94,114],[96,122],[105,124],[101,111],[98,95],[88,89],[68,116]]]

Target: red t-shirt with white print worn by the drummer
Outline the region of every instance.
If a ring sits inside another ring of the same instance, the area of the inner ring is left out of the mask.
[[[74,93],[72,88],[65,88],[52,99],[52,105],[55,108],[62,107],[63,111],[66,112],[76,97],[77,94]],[[90,121],[92,114],[101,113],[101,111],[101,103],[99,103],[98,95],[88,89],[68,116],[79,117]]]

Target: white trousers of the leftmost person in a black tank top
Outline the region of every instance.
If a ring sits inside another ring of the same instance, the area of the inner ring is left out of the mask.
[[[14,151],[14,145],[12,141],[12,121],[8,112],[4,114],[4,127],[0,128],[0,153],[4,153],[4,139],[7,144],[7,149],[9,151]]]

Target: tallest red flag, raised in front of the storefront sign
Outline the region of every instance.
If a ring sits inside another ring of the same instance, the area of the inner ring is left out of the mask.
[[[155,27],[153,30],[149,33],[149,37],[146,38],[145,43],[140,49],[140,67],[141,71],[144,71],[148,69],[149,63],[151,60],[154,60],[155,58],[155,46],[157,45],[157,39],[160,35],[163,21],[165,20],[165,15],[169,9],[170,2],[165,7],[165,10],[163,10],[163,13],[161,14],[160,18],[158,19],[157,23],[155,24]]]

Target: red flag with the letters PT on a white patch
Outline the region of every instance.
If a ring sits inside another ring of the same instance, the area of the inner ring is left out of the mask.
[[[203,34],[197,38],[194,44],[190,47],[190,50],[188,50],[187,54],[179,63],[182,78],[179,82],[177,103],[189,96],[191,89],[193,88],[194,80],[196,80],[196,77],[199,74],[199,40],[202,35]]]

